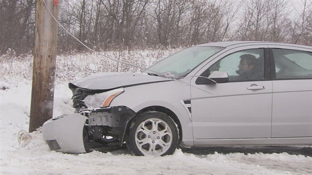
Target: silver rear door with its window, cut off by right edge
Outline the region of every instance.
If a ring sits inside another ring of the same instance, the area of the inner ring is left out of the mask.
[[[312,52],[270,47],[275,64],[272,137],[312,137]]]

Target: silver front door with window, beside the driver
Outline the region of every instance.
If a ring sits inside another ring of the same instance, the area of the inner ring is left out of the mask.
[[[195,145],[205,144],[205,139],[271,136],[272,82],[265,77],[266,47],[249,46],[226,51],[192,78],[191,112]],[[260,77],[239,79],[240,57],[246,54],[257,58]],[[229,82],[196,83],[198,76],[207,77],[214,70],[226,72]]]

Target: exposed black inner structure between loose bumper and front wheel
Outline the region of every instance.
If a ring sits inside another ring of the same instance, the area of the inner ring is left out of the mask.
[[[135,113],[125,107],[89,108],[81,112],[88,117],[85,126],[85,147],[92,150],[101,146],[122,146],[126,125]],[[113,137],[108,140],[107,137]]]

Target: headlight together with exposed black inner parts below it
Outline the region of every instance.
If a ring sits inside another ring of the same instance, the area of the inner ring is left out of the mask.
[[[86,151],[93,149],[109,150],[122,145],[122,134],[124,133],[121,125],[127,118],[134,116],[134,112],[125,106],[109,107],[112,100],[124,92],[123,88],[99,92],[93,94],[83,91],[83,94],[77,94],[77,89],[73,90],[73,106],[81,115],[86,116],[86,124],[84,126],[84,145]],[[78,91],[79,92],[79,91]],[[88,92],[88,91],[87,91]],[[81,99],[75,99],[78,97]],[[87,95],[84,99],[84,95]],[[105,147],[103,147],[105,146]]]

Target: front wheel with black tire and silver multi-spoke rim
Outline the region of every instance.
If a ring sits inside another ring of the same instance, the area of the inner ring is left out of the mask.
[[[178,146],[175,122],[161,112],[144,112],[134,118],[128,130],[126,145],[133,155],[169,155]]]

